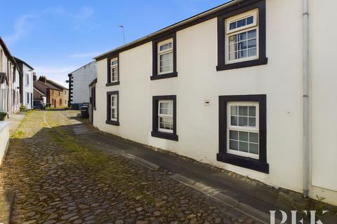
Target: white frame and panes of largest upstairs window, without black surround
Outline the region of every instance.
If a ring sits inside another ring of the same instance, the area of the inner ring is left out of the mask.
[[[226,24],[226,62],[258,59],[258,10],[228,18]]]

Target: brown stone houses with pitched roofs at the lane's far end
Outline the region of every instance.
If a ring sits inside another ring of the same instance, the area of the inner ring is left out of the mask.
[[[39,100],[52,107],[67,107],[68,90],[62,85],[48,80],[46,76],[34,76],[34,100]]]

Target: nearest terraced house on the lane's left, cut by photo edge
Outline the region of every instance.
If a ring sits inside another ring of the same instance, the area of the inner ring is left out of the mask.
[[[0,37],[0,111],[13,113],[20,110],[21,70]]]

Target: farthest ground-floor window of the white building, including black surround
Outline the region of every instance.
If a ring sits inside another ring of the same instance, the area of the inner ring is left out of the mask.
[[[119,125],[119,92],[107,92],[107,124]]]

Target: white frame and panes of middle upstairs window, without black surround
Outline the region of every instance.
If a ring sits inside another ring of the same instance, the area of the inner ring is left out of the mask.
[[[158,43],[158,74],[173,72],[173,39]]]

